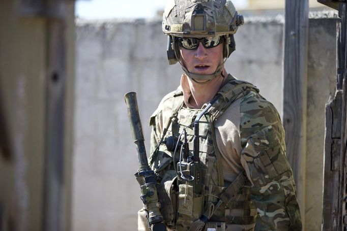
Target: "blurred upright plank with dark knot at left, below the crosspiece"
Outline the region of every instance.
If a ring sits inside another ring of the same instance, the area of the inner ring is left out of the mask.
[[[43,230],[63,230],[64,119],[65,119],[65,29],[62,20],[48,22],[48,67],[46,79],[46,160]]]

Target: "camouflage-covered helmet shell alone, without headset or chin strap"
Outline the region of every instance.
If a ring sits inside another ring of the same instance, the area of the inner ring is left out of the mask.
[[[229,0],[170,0],[162,30],[175,37],[203,38],[233,35],[243,22]]]

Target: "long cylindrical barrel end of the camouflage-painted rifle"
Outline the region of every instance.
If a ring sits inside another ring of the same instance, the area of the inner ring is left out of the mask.
[[[132,137],[137,149],[139,169],[149,169],[146,148],[144,147],[142,125],[138,113],[136,92],[126,93],[124,99],[128,109]]]

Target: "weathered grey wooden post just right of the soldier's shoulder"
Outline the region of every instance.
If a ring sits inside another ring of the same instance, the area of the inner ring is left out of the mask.
[[[304,225],[308,0],[285,1],[283,126]]]

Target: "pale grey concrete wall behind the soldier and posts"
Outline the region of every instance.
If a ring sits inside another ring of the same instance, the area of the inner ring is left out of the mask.
[[[315,162],[307,161],[312,171],[307,176],[314,178],[307,180],[307,192],[313,193],[307,197],[315,197],[308,199],[309,211],[302,211],[312,216],[306,230],[317,230],[321,223],[324,126],[315,124],[324,124],[324,105],[335,78],[335,44],[328,43],[335,36],[336,22],[323,20],[322,27],[321,19],[312,20],[308,116],[316,120],[308,129],[315,129],[310,141],[322,145],[308,155]],[[252,82],[280,112],[282,38],[283,17],[246,19],[236,35],[237,50],[225,64],[228,73]],[[148,144],[149,117],[161,98],[177,88],[182,73],[179,64],[168,65],[165,50],[160,21],[77,22],[73,230],[136,229],[141,202],[133,174],[138,166],[124,94],[137,92]],[[312,198],[318,202],[314,204]]]

